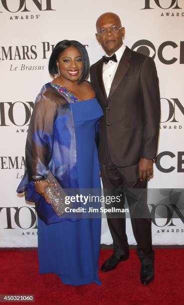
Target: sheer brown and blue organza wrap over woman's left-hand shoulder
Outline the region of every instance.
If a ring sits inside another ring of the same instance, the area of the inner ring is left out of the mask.
[[[25,146],[25,174],[17,188],[18,193],[25,192],[26,200],[39,203],[37,212],[44,221],[48,218],[45,214],[48,211],[41,215],[40,202],[44,198],[35,192],[32,181],[39,177],[47,178],[51,171],[62,188],[77,189],[76,159],[75,129],[70,104],[66,97],[48,83],[42,87],[34,104]],[[50,205],[45,206],[50,209]],[[57,222],[57,218],[55,220],[51,221]]]

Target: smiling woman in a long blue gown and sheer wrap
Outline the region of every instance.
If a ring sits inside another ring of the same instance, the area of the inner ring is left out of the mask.
[[[85,48],[77,41],[60,41],[49,72],[58,76],[37,96],[27,135],[26,172],[17,191],[26,191],[26,199],[36,204],[39,273],[55,273],[66,285],[101,284],[101,219],[67,218],[66,213],[58,217],[45,194],[49,171],[62,188],[100,188],[95,136],[103,113],[85,81]]]

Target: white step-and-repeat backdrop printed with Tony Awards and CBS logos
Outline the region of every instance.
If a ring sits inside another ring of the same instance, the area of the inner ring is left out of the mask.
[[[126,28],[124,43],[156,62],[162,119],[149,188],[166,188],[160,192],[161,204],[164,208],[170,196],[177,212],[181,194],[176,189],[184,188],[184,0],[0,0],[0,247],[37,246],[35,208],[16,195],[34,100],[51,79],[48,59],[58,41],[79,40],[91,64],[103,55],[95,23],[105,11],[119,14]],[[154,217],[152,191],[153,243],[184,244],[184,219],[171,210],[164,219]],[[130,219],[127,231],[129,243],[135,244]],[[106,219],[101,242],[112,242]]]

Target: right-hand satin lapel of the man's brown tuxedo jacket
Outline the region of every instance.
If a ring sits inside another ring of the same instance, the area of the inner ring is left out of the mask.
[[[127,73],[130,65],[131,65],[131,50],[128,47],[126,47],[126,49],[120,59],[114,79],[112,81],[108,99],[111,98],[111,96],[113,95],[113,93],[115,92],[117,87],[119,86],[120,82],[122,81],[125,74]]]

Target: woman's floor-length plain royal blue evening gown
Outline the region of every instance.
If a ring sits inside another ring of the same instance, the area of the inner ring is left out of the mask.
[[[96,98],[71,103],[76,133],[79,188],[100,188],[95,126],[103,115]],[[98,277],[101,219],[45,225],[38,217],[39,273],[55,273],[63,284],[101,284]]]

